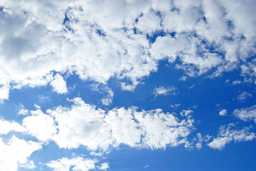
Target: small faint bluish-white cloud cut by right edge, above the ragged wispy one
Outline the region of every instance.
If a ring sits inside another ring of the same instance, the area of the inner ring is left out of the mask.
[[[254,123],[256,123],[256,105],[248,108],[237,108],[233,111],[233,114],[243,121],[254,120]]]

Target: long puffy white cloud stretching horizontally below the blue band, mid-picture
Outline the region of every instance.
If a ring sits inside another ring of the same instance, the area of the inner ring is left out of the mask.
[[[90,150],[106,151],[110,146],[165,148],[187,143],[194,120],[179,120],[161,109],[137,111],[132,108],[96,109],[81,98],[71,100],[71,108],[57,106],[47,110],[54,118],[58,132],[51,139],[60,148],[86,146]],[[154,129],[152,129],[154,128]]]

